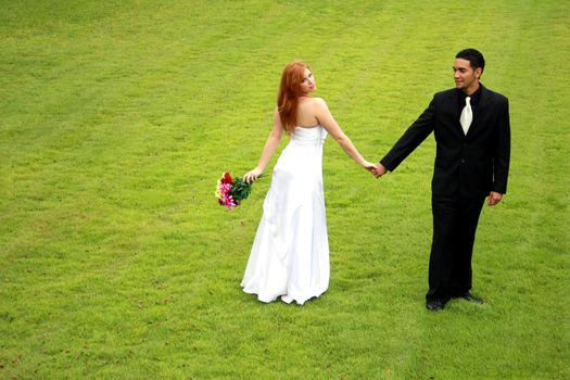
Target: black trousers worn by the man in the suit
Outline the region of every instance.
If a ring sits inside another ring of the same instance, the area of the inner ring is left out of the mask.
[[[432,197],[428,301],[448,300],[471,290],[471,256],[484,201],[485,197]]]

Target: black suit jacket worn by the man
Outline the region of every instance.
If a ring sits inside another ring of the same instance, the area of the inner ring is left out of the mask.
[[[457,91],[435,93],[380,163],[394,170],[433,131],[436,142],[433,195],[459,193],[476,198],[490,191],[506,193],[510,156],[508,100],[482,87],[466,136],[459,124]]]

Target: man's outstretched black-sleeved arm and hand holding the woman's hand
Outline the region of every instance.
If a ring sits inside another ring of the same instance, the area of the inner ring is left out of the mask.
[[[414,124],[397,140],[388,154],[380,160],[377,165],[377,177],[382,174],[382,167],[385,170],[393,172],[426,138],[433,131],[433,121],[435,115],[435,98],[432,99],[426,111],[418,117]]]

